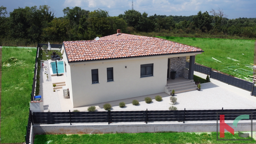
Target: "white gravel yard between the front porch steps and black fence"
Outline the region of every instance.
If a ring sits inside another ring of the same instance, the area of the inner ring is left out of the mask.
[[[213,83],[201,84],[201,91],[189,91],[175,94],[177,102],[174,105],[178,110],[205,110],[205,109],[248,109],[256,107],[256,103],[249,99],[238,95]],[[111,110],[168,110],[170,105],[169,97],[163,97],[163,100],[158,102],[152,99],[151,103],[140,101],[139,105],[134,106],[132,103],[127,103],[125,107],[113,106]]]

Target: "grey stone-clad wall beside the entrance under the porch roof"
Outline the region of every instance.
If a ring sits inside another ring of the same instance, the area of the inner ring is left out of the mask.
[[[177,71],[175,78],[183,77],[184,68],[186,67],[186,57],[170,58],[170,74],[171,71]]]

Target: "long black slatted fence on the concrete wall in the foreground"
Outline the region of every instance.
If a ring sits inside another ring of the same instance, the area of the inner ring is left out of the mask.
[[[226,120],[243,114],[233,112],[252,112],[256,120],[256,109],[33,112],[32,118],[33,124],[216,121],[217,112],[230,112],[225,113]]]

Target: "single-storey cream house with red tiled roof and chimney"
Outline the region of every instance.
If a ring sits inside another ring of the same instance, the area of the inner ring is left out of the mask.
[[[170,71],[182,77],[190,56],[193,80],[195,55],[203,51],[160,38],[123,34],[92,41],[65,41],[65,81],[73,107],[165,92]]]

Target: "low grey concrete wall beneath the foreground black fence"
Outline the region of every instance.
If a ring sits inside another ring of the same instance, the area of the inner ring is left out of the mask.
[[[233,122],[226,122],[232,125]],[[239,131],[251,131],[251,122],[239,122]],[[216,122],[203,123],[125,123],[125,124],[89,124],[89,125],[34,125],[34,134],[88,134],[88,133],[144,133],[159,131],[176,132],[214,132]],[[253,122],[256,131],[256,122]]]

